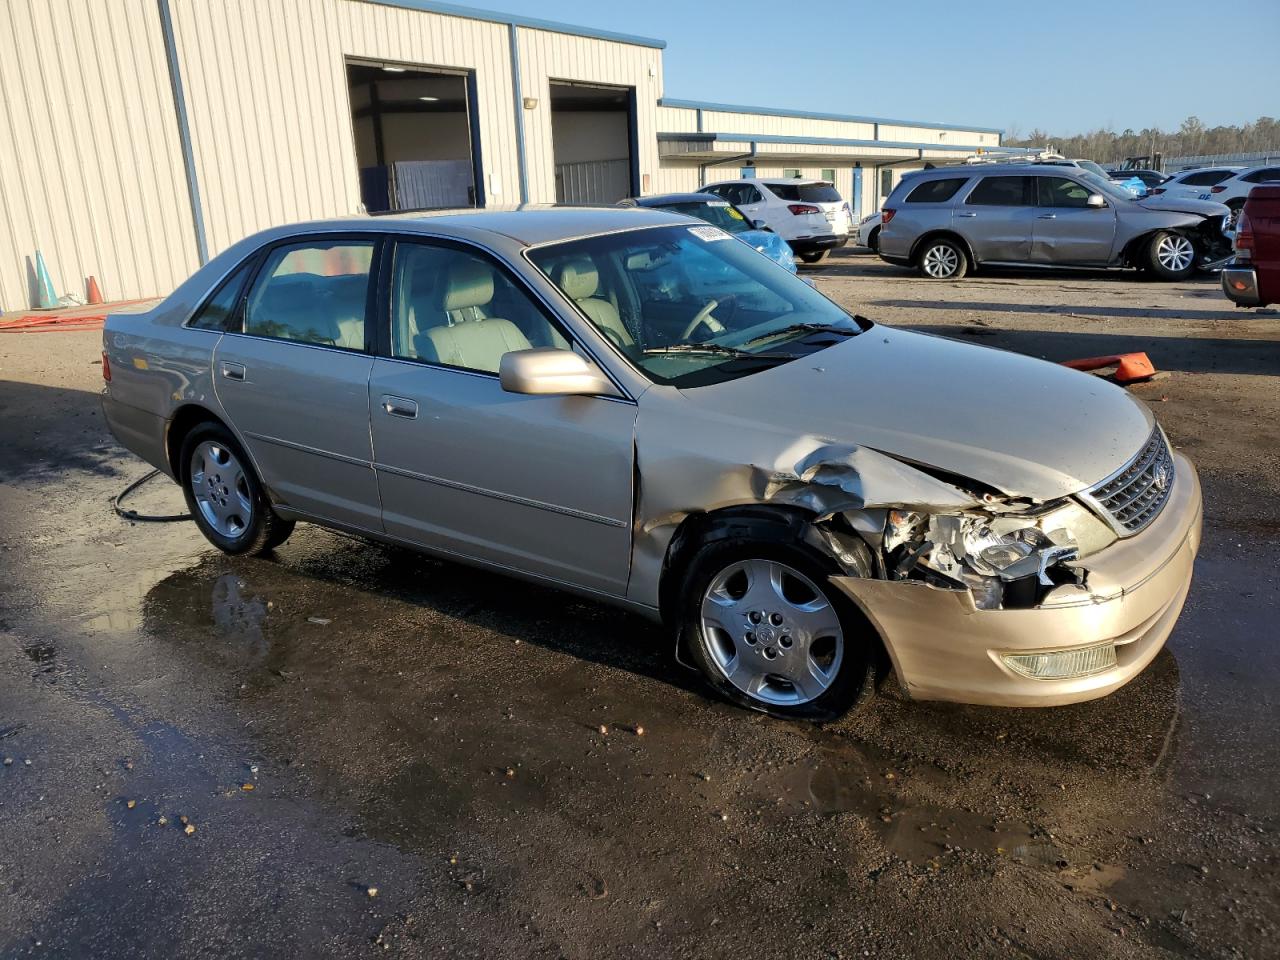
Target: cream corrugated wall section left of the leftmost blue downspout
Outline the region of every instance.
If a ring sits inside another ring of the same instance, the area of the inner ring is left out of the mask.
[[[155,0],[0,4],[0,306],[29,306],[38,247],[59,294],[166,293],[196,266]]]

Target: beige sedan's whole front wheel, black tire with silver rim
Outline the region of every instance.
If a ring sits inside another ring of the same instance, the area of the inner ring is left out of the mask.
[[[874,691],[876,637],[827,582],[844,571],[794,538],[708,543],[684,582],[686,649],[726,700],[828,721]]]

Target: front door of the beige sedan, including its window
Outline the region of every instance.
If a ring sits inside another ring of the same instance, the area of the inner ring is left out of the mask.
[[[390,328],[370,380],[387,532],[623,595],[635,404],[503,390],[503,353],[567,340],[471,247],[399,242]]]

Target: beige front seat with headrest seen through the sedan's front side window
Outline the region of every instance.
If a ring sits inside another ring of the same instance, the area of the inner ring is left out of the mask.
[[[463,319],[440,326],[428,328],[413,338],[413,346],[422,360],[468,370],[498,372],[503,353],[529,349],[529,338],[509,320],[485,316],[493,300],[493,270],[484,264],[470,261],[449,270],[444,288],[442,314]],[[421,323],[421,317],[419,317]]]

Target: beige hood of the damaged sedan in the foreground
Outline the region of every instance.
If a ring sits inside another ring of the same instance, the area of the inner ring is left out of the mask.
[[[870,447],[1009,495],[1052,500],[1123,467],[1146,404],[1096,376],[887,326],[758,374],[689,388],[718,429]],[[744,454],[748,461],[755,451]]]

